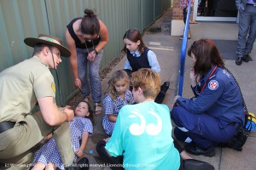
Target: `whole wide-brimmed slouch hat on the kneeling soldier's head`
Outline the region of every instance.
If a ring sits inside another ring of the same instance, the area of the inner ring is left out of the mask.
[[[24,42],[26,45],[32,48],[35,47],[37,43],[49,44],[55,48],[58,48],[61,52],[61,56],[63,57],[69,57],[71,54],[70,51],[62,45],[63,43],[60,38],[49,36],[47,34],[39,34],[38,37],[26,37]]]

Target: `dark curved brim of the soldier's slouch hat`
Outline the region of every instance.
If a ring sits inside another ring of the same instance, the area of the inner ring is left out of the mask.
[[[55,42],[49,42],[49,41],[46,41],[46,40],[43,40],[43,39],[38,39],[38,38],[35,38],[35,37],[26,37],[24,39],[24,42],[26,43],[26,45],[30,46],[30,47],[35,47],[35,45],[37,43],[45,43],[45,44],[49,44],[51,46],[54,46],[55,48],[58,48],[61,52],[61,56],[63,57],[69,57],[71,55],[70,51],[65,48],[64,46],[60,45],[60,44],[57,44]]]

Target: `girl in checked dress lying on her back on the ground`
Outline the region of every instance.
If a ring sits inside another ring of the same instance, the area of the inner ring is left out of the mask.
[[[84,149],[89,136],[92,135],[93,126],[91,122],[92,111],[89,103],[85,101],[80,102],[74,113],[75,117],[73,118],[73,122],[69,122],[69,127],[73,150],[76,155],[74,161],[76,161],[78,157],[84,155]],[[81,139],[82,142],[79,144]],[[44,168],[56,169],[57,167],[59,169],[64,169],[59,150],[55,144],[55,139],[50,139],[47,144],[44,144],[44,146],[35,153],[33,162],[35,163],[35,166],[32,170],[43,170]]]

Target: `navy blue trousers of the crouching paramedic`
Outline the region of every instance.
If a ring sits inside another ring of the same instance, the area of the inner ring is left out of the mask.
[[[177,125],[174,130],[177,139],[184,142],[189,137],[202,148],[229,141],[239,126],[207,114],[191,113],[181,106],[173,107],[171,118]]]

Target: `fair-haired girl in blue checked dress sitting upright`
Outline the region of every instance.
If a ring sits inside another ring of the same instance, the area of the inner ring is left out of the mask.
[[[131,91],[128,89],[130,78],[125,71],[115,71],[108,82],[108,92],[103,99],[105,116],[102,119],[102,127],[109,136],[113,132],[119,110],[124,105],[134,103]]]

